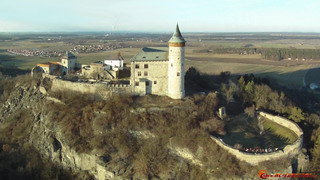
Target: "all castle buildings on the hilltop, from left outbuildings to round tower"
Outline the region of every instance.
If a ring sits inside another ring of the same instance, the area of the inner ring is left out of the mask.
[[[169,48],[145,47],[131,58],[130,85],[129,83],[117,85],[107,83],[106,88],[122,87],[123,89],[125,87],[127,88],[125,92],[133,95],[154,94],[182,99],[185,96],[185,43],[177,25],[176,31],[168,42]],[[61,62],[37,64],[32,73],[40,72],[42,75],[54,76],[78,73],[85,78],[95,78],[96,81],[118,79],[119,72],[124,68],[123,58],[119,57],[81,65],[72,53],[67,52]]]

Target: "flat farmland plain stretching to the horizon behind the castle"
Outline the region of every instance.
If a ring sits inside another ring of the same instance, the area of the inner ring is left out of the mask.
[[[43,51],[66,51],[76,45],[91,45],[103,43],[115,43],[126,48],[99,51],[91,53],[75,53],[78,61],[89,64],[108,57],[114,57],[121,53],[128,63],[130,59],[144,46],[167,46],[166,41],[170,34],[0,34],[0,66],[18,67],[31,69],[38,63],[60,61],[59,57],[39,57],[12,55],[6,49],[36,49]],[[283,36],[283,37],[282,37]],[[263,60],[261,55],[240,54],[214,54],[200,53],[197,50],[210,48],[242,48],[250,45],[256,48],[297,48],[317,49],[320,48],[320,35],[300,34],[228,34],[186,33],[186,70],[194,66],[201,72],[219,74],[222,71],[230,71],[231,74],[250,74],[268,77],[282,85],[290,87],[303,86],[306,76],[307,83],[317,80],[320,72],[310,70],[320,67],[320,61],[272,61]],[[49,39],[54,41],[49,41]]]

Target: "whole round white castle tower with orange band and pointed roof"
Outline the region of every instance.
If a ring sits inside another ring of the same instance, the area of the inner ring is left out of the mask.
[[[169,40],[168,64],[168,96],[172,99],[182,99],[184,91],[184,54],[186,41],[181,35],[179,26]]]

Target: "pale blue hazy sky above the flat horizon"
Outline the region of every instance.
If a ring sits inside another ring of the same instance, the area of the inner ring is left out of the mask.
[[[320,32],[320,0],[0,0],[0,32]]]

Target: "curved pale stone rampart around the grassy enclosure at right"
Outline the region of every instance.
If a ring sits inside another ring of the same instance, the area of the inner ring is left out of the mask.
[[[288,129],[291,129],[296,135],[298,136],[298,139],[290,145],[287,145],[284,147],[283,151],[276,151],[271,153],[264,153],[264,154],[253,154],[253,153],[247,153],[239,151],[238,149],[235,149],[231,147],[230,145],[224,143],[223,141],[219,140],[216,137],[211,136],[211,138],[223,149],[228,151],[229,153],[236,156],[239,160],[245,161],[247,163],[250,163],[252,165],[257,165],[263,161],[267,160],[275,160],[280,158],[286,158],[286,157],[294,157],[298,155],[301,152],[302,143],[303,143],[303,132],[300,129],[300,127],[295,124],[294,122],[291,122],[285,118],[279,117],[279,116],[273,116],[268,113],[260,112],[260,115],[263,117],[266,117],[267,119],[284,126]]]

